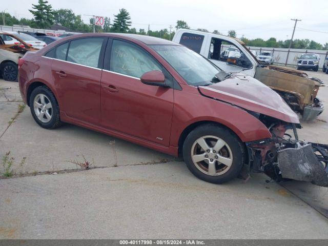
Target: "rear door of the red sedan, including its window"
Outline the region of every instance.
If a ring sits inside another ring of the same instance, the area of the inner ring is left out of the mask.
[[[100,79],[107,37],[73,39],[55,49],[51,69],[60,110],[67,116],[98,125]]]

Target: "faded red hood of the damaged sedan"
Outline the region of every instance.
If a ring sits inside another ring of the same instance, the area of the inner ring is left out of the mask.
[[[204,96],[286,122],[299,124],[297,114],[278,93],[249,75],[234,74],[219,83],[199,86],[198,89]]]

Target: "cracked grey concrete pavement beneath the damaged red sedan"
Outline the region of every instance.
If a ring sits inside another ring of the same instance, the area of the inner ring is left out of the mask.
[[[328,107],[328,87],[319,97]],[[0,155],[10,151],[16,175],[30,175],[0,179],[0,239],[328,238],[326,188],[263,174],[213,185],[172,156],[111,136],[42,129],[19,104],[18,83],[0,79]],[[328,109],[302,122],[299,137],[328,144],[327,122]],[[69,161],[83,156],[98,169],[76,172]]]

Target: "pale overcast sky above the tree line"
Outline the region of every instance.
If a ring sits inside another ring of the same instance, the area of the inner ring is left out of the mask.
[[[28,11],[37,0],[1,0],[0,11],[5,10],[18,18],[32,15]],[[220,1],[220,0],[48,0],[54,9],[72,9],[82,15],[86,23],[89,15],[108,16],[112,20],[119,9],[125,8],[131,16],[132,27],[137,30],[175,28],[176,21],[185,20],[191,29],[218,30],[227,34],[235,30],[237,37],[276,37],[278,40],[292,37],[309,38],[318,43],[328,43],[328,1],[275,0],[275,1]]]

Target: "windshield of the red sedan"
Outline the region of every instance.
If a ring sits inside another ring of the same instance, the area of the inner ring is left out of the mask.
[[[163,57],[189,85],[204,86],[215,80],[215,75],[221,71],[206,58],[188,49],[185,46],[175,45],[151,45],[161,57]]]

